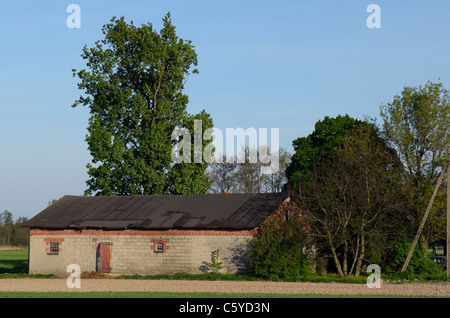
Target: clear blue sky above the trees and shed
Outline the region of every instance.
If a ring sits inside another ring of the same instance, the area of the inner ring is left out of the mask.
[[[81,28],[69,29],[69,4]],[[369,4],[381,28],[369,29]],[[379,118],[404,86],[450,88],[450,1],[2,1],[0,4],[0,212],[32,217],[52,199],[81,195],[90,154],[88,109],[72,68],[112,16],[158,30],[170,11],[192,40],[200,73],[188,110],[217,127],[279,128],[280,145],[311,133],[324,116]],[[270,131],[270,130],[269,130]]]

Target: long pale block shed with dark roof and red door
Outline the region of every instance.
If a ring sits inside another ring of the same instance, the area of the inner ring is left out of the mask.
[[[253,231],[288,202],[286,193],[64,196],[25,224],[29,272],[195,274],[217,249],[221,272],[245,271]]]

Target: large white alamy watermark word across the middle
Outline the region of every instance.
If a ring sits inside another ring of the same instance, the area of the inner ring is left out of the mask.
[[[194,120],[194,158],[192,158],[192,136],[187,128],[179,127],[172,132],[172,140],[177,141],[172,148],[174,163],[249,163],[261,165],[262,174],[274,174],[279,168],[279,128],[270,129],[270,148],[267,146],[267,128],[250,127],[226,128],[225,140],[223,132],[218,128],[208,128],[203,133],[202,121]],[[214,138],[213,138],[214,136]],[[180,140],[181,137],[181,140]],[[235,144],[235,137],[237,143]],[[248,138],[248,144],[246,143]],[[203,147],[203,141],[211,141]],[[226,145],[226,152],[224,151]],[[214,154],[213,154],[214,153]],[[237,153],[237,155],[236,155]],[[259,158],[258,158],[259,157]],[[193,159],[193,160],[192,160]]]

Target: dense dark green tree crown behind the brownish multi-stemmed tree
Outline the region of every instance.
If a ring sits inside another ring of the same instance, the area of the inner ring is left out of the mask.
[[[326,116],[316,123],[310,135],[294,140],[294,154],[286,168],[286,188],[298,192],[299,179],[305,178],[318,163],[329,162],[336,148],[342,145],[345,134],[361,124],[362,121],[349,115]]]

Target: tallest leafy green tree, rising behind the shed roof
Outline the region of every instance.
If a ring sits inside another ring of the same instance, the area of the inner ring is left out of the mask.
[[[159,33],[150,23],[137,27],[124,17],[113,17],[102,31],[103,40],[83,49],[87,69],[73,70],[85,93],[73,107],[88,106],[91,114],[85,194],[204,193],[207,164],[171,159],[175,128],[188,128],[193,138],[194,119],[202,120],[202,132],[212,127],[205,111],[187,112],[184,84],[198,73],[191,71],[197,66],[191,41],[176,35],[170,13]]]

